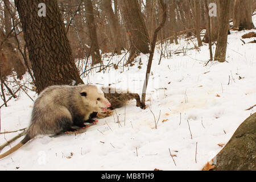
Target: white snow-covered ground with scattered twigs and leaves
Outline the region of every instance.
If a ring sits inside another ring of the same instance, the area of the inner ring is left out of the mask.
[[[250,31],[232,31],[228,36],[228,62],[210,62],[206,67],[208,44],[200,51],[191,49],[186,55],[162,57],[160,65],[161,47],[156,46],[146,104],[151,105],[156,121],[160,112],[157,129],[150,109],[142,110],[135,106],[135,100],[130,101],[126,107],[116,109],[117,114],[99,119],[85,133],[36,137],[0,159],[0,169],[200,170],[221,150],[218,144],[228,142],[237,127],[256,110],[245,110],[256,104],[256,49],[255,44],[242,45],[240,39],[246,32]],[[169,45],[168,50],[194,47],[192,40],[179,42],[177,46]],[[195,39],[193,42],[197,44]],[[117,63],[123,56],[114,56],[111,61]],[[111,82],[116,88],[141,93],[148,57],[141,55],[137,60],[133,67],[110,68],[105,73],[94,71],[84,81],[98,86]],[[28,94],[36,98],[34,92]],[[1,132],[27,127],[33,105],[30,98],[22,93],[8,105],[1,109]],[[1,134],[0,143],[16,134]],[[5,147],[1,154],[9,149]]]

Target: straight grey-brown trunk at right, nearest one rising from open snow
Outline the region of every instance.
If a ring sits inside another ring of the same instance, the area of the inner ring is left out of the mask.
[[[224,62],[226,59],[226,46],[228,40],[229,30],[229,5],[231,0],[220,1],[221,15],[220,15],[220,27],[218,28],[218,40],[217,47],[214,56],[214,60]]]

